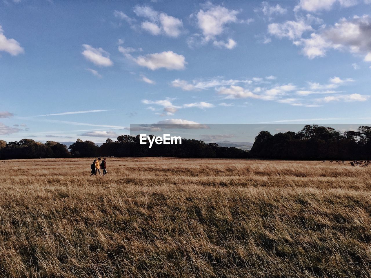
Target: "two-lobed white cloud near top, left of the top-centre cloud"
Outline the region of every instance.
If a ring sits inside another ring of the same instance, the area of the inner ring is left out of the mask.
[[[145,17],[149,21],[141,23],[142,29],[154,36],[164,34],[169,37],[178,37],[183,29],[183,22],[166,13],[153,10],[148,6],[136,6],[134,12],[137,16]]]

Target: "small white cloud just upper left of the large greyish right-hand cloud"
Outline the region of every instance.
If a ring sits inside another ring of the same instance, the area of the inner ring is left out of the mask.
[[[304,20],[286,21],[285,23],[271,23],[268,25],[268,33],[282,39],[288,37],[290,40],[300,38],[306,31],[311,31],[312,26]]]

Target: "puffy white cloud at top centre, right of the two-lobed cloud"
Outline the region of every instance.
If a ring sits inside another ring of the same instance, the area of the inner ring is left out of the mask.
[[[204,40],[207,42],[214,39],[215,36],[224,32],[226,24],[237,22],[238,13],[237,10],[214,6],[208,2],[207,10],[200,10],[196,14],[197,25],[202,30]]]

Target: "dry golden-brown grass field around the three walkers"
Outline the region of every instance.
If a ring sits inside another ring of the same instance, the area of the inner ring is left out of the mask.
[[[371,167],[0,163],[1,277],[371,277]]]

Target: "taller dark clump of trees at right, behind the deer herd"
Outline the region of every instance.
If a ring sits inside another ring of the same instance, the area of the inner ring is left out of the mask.
[[[298,160],[370,160],[371,127],[339,132],[334,128],[306,125],[295,132],[275,135],[263,130],[249,153],[253,158]]]

